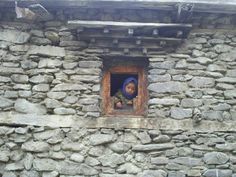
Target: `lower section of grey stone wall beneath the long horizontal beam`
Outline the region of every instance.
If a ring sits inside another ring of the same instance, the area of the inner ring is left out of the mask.
[[[3,177],[235,177],[235,133],[0,127]]]

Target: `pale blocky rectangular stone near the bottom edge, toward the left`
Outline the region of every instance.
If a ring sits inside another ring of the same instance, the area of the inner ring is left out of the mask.
[[[33,168],[37,171],[54,171],[57,166],[58,162],[52,159],[38,158],[33,161]]]

